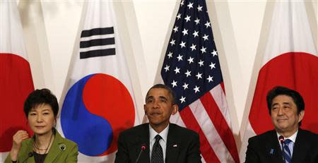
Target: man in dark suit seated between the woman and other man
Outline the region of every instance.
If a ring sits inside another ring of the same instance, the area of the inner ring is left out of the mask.
[[[199,135],[169,122],[170,116],[178,111],[170,87],[161,84],[151,87],[144,110],[149,123],[120,133],[115,163],[201,162]]]

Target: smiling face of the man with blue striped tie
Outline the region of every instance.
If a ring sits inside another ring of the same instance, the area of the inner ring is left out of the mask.
[[[302,120],[304,111],[298,114],[297,106],[292,97],[278,95],[273,98],[271,104],[271,122],[278,133],[295,132],[298,130],[298,122]]]

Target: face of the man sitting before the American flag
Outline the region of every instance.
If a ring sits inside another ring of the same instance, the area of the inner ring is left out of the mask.
[[[177,113],[177,104],[172,104],[172,96],[163,88],[149,90],[143,108],[151,126],[167,126],[170,115]]]

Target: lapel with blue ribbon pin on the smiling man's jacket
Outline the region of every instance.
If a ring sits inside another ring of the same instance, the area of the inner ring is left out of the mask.
[[[266,143],[266,154],[269,155],[271,162],[283,163],[283,155],[276,131],[271,131],[269,141]]]

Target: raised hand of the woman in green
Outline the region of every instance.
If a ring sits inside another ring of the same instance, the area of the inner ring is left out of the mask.
[[[11,160],[16,161],[18,159],[18,152],[23,140],[29,138],[29,134],[26,131],[18,131],[13,135],[13,145],[10,151]]]

